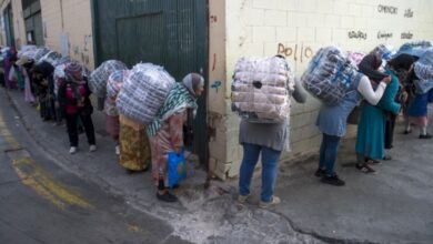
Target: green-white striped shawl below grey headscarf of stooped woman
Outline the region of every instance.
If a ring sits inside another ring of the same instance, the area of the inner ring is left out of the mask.
[[[161,129],[162,123],[174,113],[184,109],[197,110],[197,108],[195,98],[187,87],[183,83],[175,83],[170,90],[164,104],[158,111],[155,119],[148,125],[148,135],[154,136]]]

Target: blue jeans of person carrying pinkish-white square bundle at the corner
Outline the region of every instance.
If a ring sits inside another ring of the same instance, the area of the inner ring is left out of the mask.
[[[260,153],[262,153],[261,200],[262,202],[271,202],[273,190],[275,187],[276,167],[281,151],[275,151],[266,146],[248,143],[243,144],[243,160],[239,177],[239,194],[250,194],[251,179],[254,172],[254,167],[258,164]]]

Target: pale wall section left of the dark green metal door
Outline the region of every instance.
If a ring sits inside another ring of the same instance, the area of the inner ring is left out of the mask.
[[[94,68],[90,0],[41,0],[46,45]]]

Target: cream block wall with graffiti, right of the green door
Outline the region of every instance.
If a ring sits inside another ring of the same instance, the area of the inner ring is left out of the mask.
[[[433,1],[429,0],[230,0],[225,6],[221,2],[210,0],[210,69],[213,63],[216,68],[211,72],[213,80],[209,88],[210,121],[215,126],[214,141],[210,144],[211,166],[214,165],[220,177],[238,174],[242,157],[238,143],[239,119],[230,112],[230,81],[240,57],[281,53],[296,75],[301,75],[313,53],[324,45],[369,52],[379,43],[399,48],[410,40],[433,39],[430,12]],[[225,70],[220,67],[224,61]],[[218,81],[221,85],[216,90]],[[292,153],[284,154],[283,160],[318,151],[321,135],[314,121],[319,106],[320,102],[313,98],[306,104],[294,104]],[[353,128],[351,131],[353,134]]]

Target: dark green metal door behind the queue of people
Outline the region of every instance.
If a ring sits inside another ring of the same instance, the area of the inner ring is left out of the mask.
[[[208,0],[93,0],[97,64],[119,59],[163,65],[178,81],[208,77]],[[207,95],[199,99],[194,145],[208,162]]]

